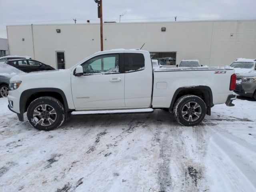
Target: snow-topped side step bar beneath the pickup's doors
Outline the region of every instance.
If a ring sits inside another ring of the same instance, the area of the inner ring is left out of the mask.
[[[96,114],[128,114],[128,113],[151,113],[152,108],[146,109],[118,109],[118,110],[97,110],[97,111],[73,111],[71,115],[96,115]]]

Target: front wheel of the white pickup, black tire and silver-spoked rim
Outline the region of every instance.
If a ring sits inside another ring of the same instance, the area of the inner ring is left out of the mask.
[[[63,104],[53,97],[40,97],[30,103],[27,110],[29,123],[38,130],[50,131],[65,120]]]

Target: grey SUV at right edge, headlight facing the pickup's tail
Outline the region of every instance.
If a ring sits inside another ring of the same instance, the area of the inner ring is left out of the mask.
[[[254,97],[256,100],[256,71],[250,71],[237,76],[234,92],[246,97]]]

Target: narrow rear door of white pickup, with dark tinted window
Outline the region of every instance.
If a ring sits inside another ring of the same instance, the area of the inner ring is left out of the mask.
[[[126,107],[150,107],[152,63],[149,54],[124,53],[124,101]]]

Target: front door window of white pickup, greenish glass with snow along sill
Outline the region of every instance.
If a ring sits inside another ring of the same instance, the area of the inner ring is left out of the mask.
[[[119,54],[108,54],[94,57],[83,64],[84,74],[119,73]]]

